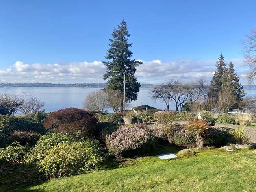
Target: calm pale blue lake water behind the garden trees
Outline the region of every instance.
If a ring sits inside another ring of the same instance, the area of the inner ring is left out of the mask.
[[[6,87],[1,87],[0,91],[5,90]],[[83,101],[90,92],[100,90],[101,88],[78,88],[78,87],[11,87],[10,92],[17,94],[26,94],[26,97],[35,96],[45,102],[45,106],[41,109],[45,109],[46,112],[57,111],[59,109],[65,109],[69,107],[75,107],[82,109]],[[130,107],[149,105],[157,109],[164,110],[166,108],[165,103],[161,101],[154,102],[148,96],[151,88],[141,88],[138,93],[137,101],[133,101]],[[255,97],[256,89],[253,87],[244,87],[246,96]],[[170,104],[170,110],[175,110],[175,105]],[[109,113],[113,110],[109,109]],[[16,114],[22,114],[18,111]]]

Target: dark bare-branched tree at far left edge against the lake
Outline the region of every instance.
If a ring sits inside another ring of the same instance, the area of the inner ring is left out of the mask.
[[[13,115],[24,102],[23,94],[9,92],[9,88],[0,93],[0,114]]]

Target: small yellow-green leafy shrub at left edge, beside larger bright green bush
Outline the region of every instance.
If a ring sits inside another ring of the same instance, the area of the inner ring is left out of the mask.
[[[8,147],[0,149],[0,160],[8,162],[24,161],[24,155],[27,151],[27,146],[22,146],[18,142],[13,142]]]

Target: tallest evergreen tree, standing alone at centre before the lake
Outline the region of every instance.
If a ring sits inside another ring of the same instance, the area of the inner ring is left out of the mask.
[[[126,100],[129,102],[135,101],[141,85],[137,82],[134,74],[136,67],[142,62],[131,59],[133,53],[129,50],[129,47],[132,47],[132,43],[128,43],[130,34],[124,20],[122,20],[120,26],[118,25],[117,28],[114,28],[112,37],[113,39],[109,39],[111,44],[109,44],[110,48],[107,50],[107,56],[105,57],[111,61],[103,61],[104,65],[107,66],[103,79],[108,79],[107,89],[119,90],[122,94],[124,93],[125,83]]]

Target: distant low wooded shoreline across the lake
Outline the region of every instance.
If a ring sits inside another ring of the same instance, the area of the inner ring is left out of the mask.
[[[152,88],[155,84],[141,83],[140,88]],[[106,83],[0,83],[0,87],[86,87],[106,88]]]

